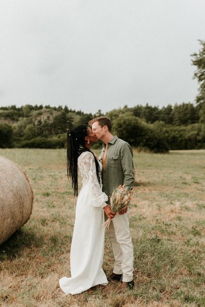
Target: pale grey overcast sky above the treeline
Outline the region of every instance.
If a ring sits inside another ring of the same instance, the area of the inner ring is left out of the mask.
[[[0,0],[0,105],[194,102],[204,0]]]

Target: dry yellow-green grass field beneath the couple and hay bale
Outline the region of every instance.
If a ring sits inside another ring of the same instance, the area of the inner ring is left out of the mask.
[[[130,229],[135,289],[116,295],[117,283],[63,295],[76,198],[66,174],[65,150],[0,149],[22,165],[34,189],[30,220],[0,246],[0,306],[181,307],[205,305],[205,151],[134,152],[135,197]],[[104,271],[112,272],[106,239]]]

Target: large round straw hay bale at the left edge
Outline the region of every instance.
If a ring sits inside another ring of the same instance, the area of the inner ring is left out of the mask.
[[[33,190],[26,173],[0,156],[0,244],[28,221],[32,204]]]

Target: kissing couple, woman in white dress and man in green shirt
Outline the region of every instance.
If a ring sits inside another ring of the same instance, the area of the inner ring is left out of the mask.
[[[67,174],[77,197],[75,223],[70,249],[71,277],[59,280],[65,294],[78,294],[108,281],[118,281],[117,292],[134,288],[133,244],[129,229],[129,208],[111,211],[110,195],[119,185],[132,189],[135,182],[131,146],[113,136],[107,116],[100,116],[87,125],[67,132]],[[99,160],[91,151],[96,140],[103,141]],[[78,194],[78,170],[83,186]],[[114,266],[110,276],[103,269],[105,219],[111,218],[108,238],[112,242]]]

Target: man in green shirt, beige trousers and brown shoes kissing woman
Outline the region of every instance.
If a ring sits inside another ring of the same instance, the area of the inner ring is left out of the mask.
[[[135,182],[133,167],[133,152],[131,146],[111,134],[112,124],[107,116],[94,118],[89,122],[97,140],[102,140],[103,149],[100,162],[103,166],[102,180],[103,192],[109,199],[104,207],[105,214],[113,218],[107,235],[112,242],[115,258],[113,273],[108,280],[120,281],[118,291],[134,287],[133,281],[133,244],[129,229],[129,209],[113,213],[109,201],[113,190],[119,185],[125,184],[132,189]]]

